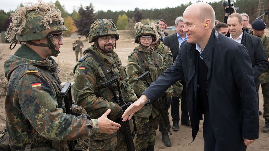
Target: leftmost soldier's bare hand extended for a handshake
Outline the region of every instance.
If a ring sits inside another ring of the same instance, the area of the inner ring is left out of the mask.
[[[109,120],[107,118],[108,114],[110,113],[110,109],[108,109],[101,117],[99,117],[98,120],[98,126],[99,126],[99,133],[107,133],[112,134],[119,130],[121,127],[120,124],[113,122],[112,120]]]

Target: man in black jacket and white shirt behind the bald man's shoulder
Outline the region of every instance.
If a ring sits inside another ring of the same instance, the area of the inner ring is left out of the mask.
[[[244,23],[241,14],[234,13],[229,15],[227,22],[230,38],[241,43],[248,50],[248,56],[251,60],[254,72],[256,92],[258,94],[258,77],[268,68],[268,59],[264,46],[259,37],[248,34],[245,30],[242,30]]]

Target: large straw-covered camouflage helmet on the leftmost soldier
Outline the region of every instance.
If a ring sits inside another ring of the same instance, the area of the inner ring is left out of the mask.
[[[39,40],[47,37],[52,31],[66,31],[61,12],[53,3],[29,3],[30,6],[18,8],[12,14],[7,30],[9,42]]]

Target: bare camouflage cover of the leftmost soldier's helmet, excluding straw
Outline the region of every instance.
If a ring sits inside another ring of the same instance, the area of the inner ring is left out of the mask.
[[[44,16],[39,14],[36,10],[28,12],[25,15],[26,24],[24,30],[21,31],[21,34],[17,35],[16,39],[18,41],[39,40],[47,37],[52,31],[67,30],[64,23],[61,21],[53,21],[52,24],[49,24],[50,28],[47,29],[44,24],[40,24],[43,17]]]

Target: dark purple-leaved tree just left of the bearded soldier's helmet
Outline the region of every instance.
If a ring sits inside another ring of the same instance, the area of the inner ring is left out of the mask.
[[[77,32],[79,35],[87,37],[91,24],[96,20],[92,3],[86,6],[85,9],[81,6],[79,8],[79,15],[81,18],[75,21],[75,25],[78,29]]]

